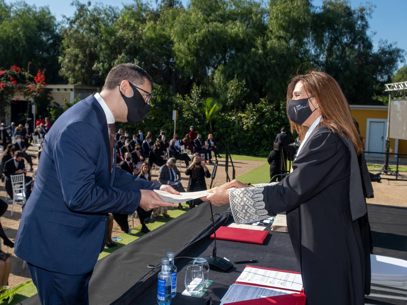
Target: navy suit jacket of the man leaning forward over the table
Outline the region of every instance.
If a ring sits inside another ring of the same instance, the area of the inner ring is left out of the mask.
[[[140,189],[160,187],[110,167],[106,116],[91,95],[65,111],[47,134],[15,255],[52,272],[92,270],[104,248],[107,214],[132,214]]]

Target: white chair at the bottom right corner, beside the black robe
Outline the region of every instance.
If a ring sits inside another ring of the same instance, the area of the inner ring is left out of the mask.
[[[407,301],[407,261],[371,254],[370,265],[372,268],[372,279],[370,281],[372,290],[404,294],[404,296],[376,293],[371,293],[369,296]]]

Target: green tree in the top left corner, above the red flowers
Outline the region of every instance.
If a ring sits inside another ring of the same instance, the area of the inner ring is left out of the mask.
[[[22,1],[7,5],[0,0],[0,11],[0,67],[27,67],[31,62],[34,71],[46,68],[49,81],[60,82],[60,24],[49,8]]]

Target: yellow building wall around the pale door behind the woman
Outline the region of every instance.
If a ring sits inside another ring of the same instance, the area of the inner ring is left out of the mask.
[[[387,110],[362,110],[362,109],[351,109],[352,116],[359,124],[359,131],[363,137],[363,143],[366,144],[366,127],[368,119],[386,119],[387,120]],[[395,140],[390,138],[390,152],[394,152]],[[407,153],[407,140],[398,140],[398,153]],[[393,157],[393,156],[391,156]]]

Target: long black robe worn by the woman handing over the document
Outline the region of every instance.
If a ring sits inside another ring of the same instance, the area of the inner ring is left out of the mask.
[[[350,211],[350,149],[338,133],[319,127],[292,167],[263,196],[268,215],[287,211],[307,304],[363,305],[370,261]]]

